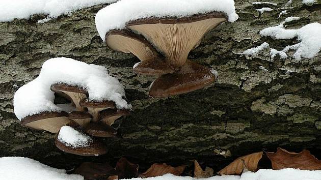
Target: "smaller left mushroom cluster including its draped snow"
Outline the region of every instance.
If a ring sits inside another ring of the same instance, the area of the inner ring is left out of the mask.
[[[72,71],[65,73],[63,67],[68,64],[90,78]],[[49,67],[60,70],[52,72]],[[62,151],[97,156],[106,153],[99,138],[116,136],[117,131],[111,125],[117,118],[130,114],[131,106],[124,95],[123,86],[105,68],[70,58],[53,58],[43,64],[35,80],[18,89],[14,108],[22,126],[58,133],[55,144]],[[94,99],[95,96],[98,98]],[[57,104],[56,97],[71,103]]]

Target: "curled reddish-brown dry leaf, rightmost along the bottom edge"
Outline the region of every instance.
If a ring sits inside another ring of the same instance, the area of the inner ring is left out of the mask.
[[[304,149],[300,153],[288,152],[278,147],[276,153],[265,153],[272,162],[275,170],[284,168],[299,168],[302,170],[320,170],[321,161],[317,160],[310,152]]]

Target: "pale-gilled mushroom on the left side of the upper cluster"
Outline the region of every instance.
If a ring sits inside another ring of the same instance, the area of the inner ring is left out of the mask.
[[[111,49],[124,53],[132,53],[141,61],[154,59],[158,55],[154,47],[143,36],[131,33],[125,29],[111,30],[106,33],[105,41]]]

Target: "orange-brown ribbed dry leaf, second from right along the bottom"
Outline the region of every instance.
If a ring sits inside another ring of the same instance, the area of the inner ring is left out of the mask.
[[[250,155],[242,156],[234,160],[231,164],[220,170],[218,173],[223,175],[239,175],[244,169],[255,172],[257,171],[257,164],[262,158],[263,152],[252,153]]]

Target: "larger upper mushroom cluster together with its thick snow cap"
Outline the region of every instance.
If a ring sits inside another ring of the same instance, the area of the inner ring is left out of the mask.
[[[130,6],[133,3],[144,6],[135,8]],[[183,9],[181,3],[185,5]],[[209,0],[120,1],[100,10],[95,20],[108,47],[140,59],[134,72],[160,76],[151,84],[149,95],[169,97],[195,91],[216,80],[210,68],[191,62],[188,55],[208,31],[238,18],[233,2],[223,4],[226,6]]]

